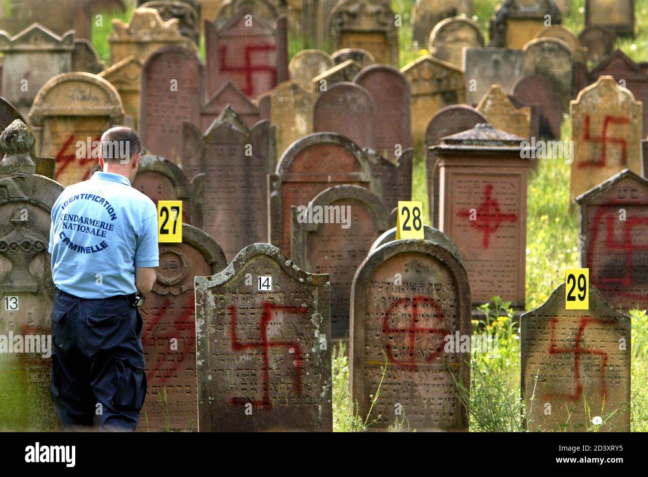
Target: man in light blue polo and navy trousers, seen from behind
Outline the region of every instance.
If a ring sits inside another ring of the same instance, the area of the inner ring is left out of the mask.
[[[101,430],[135,430],[146,396],[137,307],[156,280],[157,210],[131,187],[137,133],[109,129],[100,146],[102,172],[52,207],[52,401],[66,429],[96,415]]]

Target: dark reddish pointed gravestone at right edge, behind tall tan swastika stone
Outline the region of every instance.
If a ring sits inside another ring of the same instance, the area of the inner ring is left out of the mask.
[[[612,76],[619,85],[632,92],[634,99],[642,102],[642,135],[648,135],[648,74],[623,50],[616,50],[590,71],[589,83],[594,83],[600,76],[605,75]]]

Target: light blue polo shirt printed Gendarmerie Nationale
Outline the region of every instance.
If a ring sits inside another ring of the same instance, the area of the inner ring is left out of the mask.
[[[137,292],[135,267],[157,267],[157,209],[123,175],[95,172],[52,207],[54,285],[79,298]]]

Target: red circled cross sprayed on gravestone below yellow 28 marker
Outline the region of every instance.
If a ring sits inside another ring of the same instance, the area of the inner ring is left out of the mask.
[[[411,320],[410,320],[410,327],[408,328],[392,328],[389,326],[389,316],[395,311],[397,307],[400,306],[407,306],[411,302]],[[435,349],[430,355],[426,356],[424,361],[425,362],[431,362],[439,355],[441,355],[441,350],[442,344],[443,344],[443,337],[445,335],[448,335],[448,330],[443,328],[443,327],[421,327],[419,326],[419,322],[421,321],[421,317],[419,316],[419,304],[421,303],[428,303],[431,304],[432,307],[434,308],[434,315],[437,316],[437,320],[439,322],[443,322],[445,320],[445,316],[443,315],[443,310],[441,310],[441,306],[437,304],[432,298],[429,296],[414,296],[413,298],[401,298],[400,300],[396,300],[393,302],[389,308],[387,309],[384,318],[382,319],[382,332],[388,337],[386,346],[385,346],[385,351],[387,353],[387,359],[389,362],[392,364],[397,364],[398,366],[402,366],[403,368],[406,368],[410,371],[416,370],[418,363],[416,361],[416,341],[417,337],[421,339],[424,335],[440,335],[439,339],[439,346],[437,349]],[[396,359],[394,356],[393,352],[393,345],[389,343],[389,340],[391,340],[392,335],[402,335],[403,337],[407,338],[408,342],[408,357],[407,359]]]

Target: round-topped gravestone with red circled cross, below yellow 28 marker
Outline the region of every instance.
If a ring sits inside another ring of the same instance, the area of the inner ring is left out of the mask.
[[[470,335],[470,285],[452,253],[406,239],[365,258],[351,288],[349,381],[370,429],[387,430],[402,408],[406,430],[468,430],[457,383],[470,392],[470,353],[445,351],[449,335]]]

